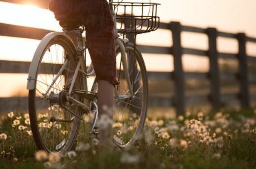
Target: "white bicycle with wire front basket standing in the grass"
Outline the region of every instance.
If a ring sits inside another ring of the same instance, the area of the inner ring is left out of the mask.
[[[117,78],[113,116],[113,141],[121,148],[136,144],[147,114],[148,79],[141,52],[125,38],[128,33],[156,30],[158,3],[109,1],[115,23]],[[118,15],[115,9],[125,9]],[[127,14],[135,7],[148,8],[152,15]],[[117,20],[121,24],[117,24]],[[130,21],[130,24],[127,22]],[[141,22],[141,24],[138,24]],[[90,124],[89,134],[99,134],[97,127],[97,82],[88,90],[88,78],[94,76],[92,63],[86,66],[88,54],[83,32],[77,20],[60,21],[64,32],[51,32],[39,43],[29,70],[29,114],[32,135],[38,149],[46,152],[66,152],[76,141],[80,121]],[[117,28],[117,25],[120,28]],[[129,25],[129,27],[127,26]],[[77,37],[78,46],[68,36]],[[120,38],[123,36],[123,38]],[[136,36],[135,36],[136,37]],[[88,120],[89,119],[89,120]]]

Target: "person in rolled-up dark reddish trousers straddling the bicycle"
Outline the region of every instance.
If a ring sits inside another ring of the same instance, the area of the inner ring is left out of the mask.
[[[93,62],[98,82],[99,119],[112,115],[107,107],[114,107],[114,86],[116,79],[116,53],[113,32],[113,19],[106,0],[51,0],[49,10],[54,12],[58,21],[77,19],[86,28],[88,50]],[[100,145],[112,145],[112,126],[100,128]]]

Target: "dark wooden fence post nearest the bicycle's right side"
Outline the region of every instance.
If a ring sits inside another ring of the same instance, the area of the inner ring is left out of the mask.
[[[176,106],[176,114],[185,112],[185,96],[184,96],[184,72],[182,67],[182,47],[181,47],[181,24],[179,22],[171,22],[172,31],[172,54],[174,62],[174,100]]]

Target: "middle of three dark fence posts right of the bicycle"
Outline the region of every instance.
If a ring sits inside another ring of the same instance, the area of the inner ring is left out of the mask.
[[[208,56],[210,62],[209,78],[210,78],[210,100],[212,102],[212,109],[219,110],[221,108],[221,97],[220,97],[220,75],[218,66],[218,51],[217,51],[217,29],[208,28],[206,29],[208,35]]]

